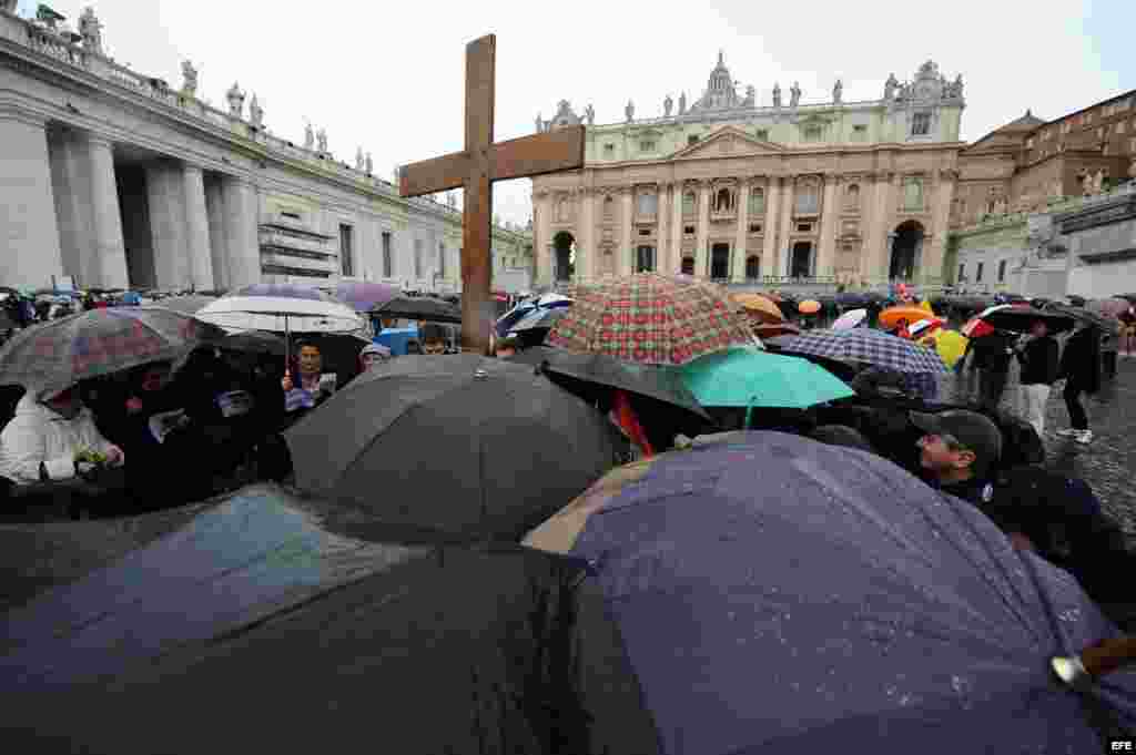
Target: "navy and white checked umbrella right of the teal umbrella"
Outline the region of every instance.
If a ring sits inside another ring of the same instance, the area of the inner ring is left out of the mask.
[[[786,353],[868,362],[896,372],[947,372],[939,355],[926,346],[880,330],[810,330],[786,339]]]

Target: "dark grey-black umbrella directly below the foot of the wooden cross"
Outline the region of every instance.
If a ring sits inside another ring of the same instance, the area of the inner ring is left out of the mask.
[[[296,484],[385,522],[518,539],[617,462],[592,406],[531,367],[400,356],[285,434]]]

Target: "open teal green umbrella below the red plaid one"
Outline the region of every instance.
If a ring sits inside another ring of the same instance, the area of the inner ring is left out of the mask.
[[[683,367],[680,374],[703,406],[808,409],[855,395],[822,367],[757,349],[707,354]]]

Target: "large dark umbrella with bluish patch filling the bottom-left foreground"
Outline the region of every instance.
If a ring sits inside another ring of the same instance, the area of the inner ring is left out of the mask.
[[[275,487],[198,507],[5,616],[6,749],[659,752],[583,560],[396,536]]]

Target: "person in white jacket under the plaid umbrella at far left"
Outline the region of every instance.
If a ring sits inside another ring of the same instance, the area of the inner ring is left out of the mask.
[[[70,479],[83,451],[105,454],[111,467],[126,461],[122,448],[99,433],[75,386],[44,400],[28,391],[0,433],[0,477],[17,485]]]

